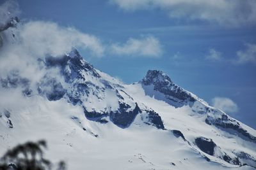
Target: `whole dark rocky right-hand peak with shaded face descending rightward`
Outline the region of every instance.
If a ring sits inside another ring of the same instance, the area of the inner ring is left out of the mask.
[[[141,84],[146,87],[144,90],[148,96],[155,96],[156,99],[162,99],[176,108],[189,104],[189,102],[195,102],[191,94],[175,85],[170,77],[162,71],[149,70]],[[150,85],[153,86],[152,90],[160,92],[163,96],[157,97],[157,95],[151,94],[152,92],[147,90],[147,86]]]

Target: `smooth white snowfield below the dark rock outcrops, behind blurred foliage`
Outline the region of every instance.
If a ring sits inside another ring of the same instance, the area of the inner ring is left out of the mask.
[[[1,124],[1,153],[18,142],[47,139],[46,157],[64,159],[68,169],[232,169],[207,162],[170,131],[132,124],[122,129],[84,118],[79,106],[65,99],[47,101],[33,96],[26,108],[13,110],[13,129]],[[180,112],[181,113],[181,112]],[[76,116],[76,118],[74,117]],[[83,130],[83,128],[86,130]],[[93,134],[92,134],[93,133]],[[95,135],[98,135],[97,138]],[[228,167],[227,167],[228,166]],[[236,169],[253,169],[243,166]]]

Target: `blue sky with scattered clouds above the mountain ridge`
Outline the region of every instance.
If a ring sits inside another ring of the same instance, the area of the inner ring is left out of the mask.
[[[256,2],[182,2],[19,0],[19,6],[23,20],[56,22],[99,38],[102,55],[81,50],[97,69],[125,83],[160,69],[256,129]]]

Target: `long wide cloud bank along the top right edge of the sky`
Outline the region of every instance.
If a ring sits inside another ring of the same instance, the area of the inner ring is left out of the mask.
[[[205,20],[220,25],[255,24],[255,0],[109,0],[126,11],[160,9],[170,18]]]

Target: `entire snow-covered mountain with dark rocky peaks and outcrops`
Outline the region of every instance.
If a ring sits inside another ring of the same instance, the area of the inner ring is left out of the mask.
[[[256,168],[256,131],[162,71],[126,85],[76,49],[33,66],[1,74],[1,154],[46,139],[47,157],[68,169]]]

